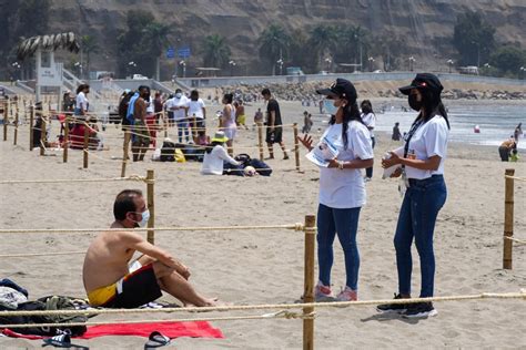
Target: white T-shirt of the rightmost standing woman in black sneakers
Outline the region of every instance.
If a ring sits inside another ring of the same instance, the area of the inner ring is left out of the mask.
[[[422,124],[409,140],[409,153],[414,152],[417,159],[426,161],[437,155],[441,165],[436,171],[421,171],[411,166],[405,167],[407,178],[424,179],[433,175],[444,174],[444,161],[447,156],[447,141],[449,130],[446,120],[442,115],[435,115],[427,123]]]

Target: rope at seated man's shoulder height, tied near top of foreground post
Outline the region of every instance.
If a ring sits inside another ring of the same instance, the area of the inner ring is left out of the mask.
[[[303,224],[294,225],[261,225],[261,226],[195,226],[195,227],[138,227],[133,231],[206,231],[206,230],[256,230],[256,229],[291,229],[295,231],[304,230]],[[123,231],[125,228],[1,228],[0,234],[43,234],[43,233],[97,233],[97,231]],[[311,230],[310,230],[311,231]],[[315,231],[315,229],[314,229]]]

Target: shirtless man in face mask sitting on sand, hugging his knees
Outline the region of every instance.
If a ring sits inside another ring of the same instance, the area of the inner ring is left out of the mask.
[[[82,277],[90,303],[107,308],[136,308],[166,291],[184,306],[216,306],[216,299],[200,296],[190,285],[190,271],[169,253],[148,243],[133,228],[150,217],[141,191],[125,189],[113,204],[115,222],[90,245]],[[133,254],[143,255],[129,265]]]

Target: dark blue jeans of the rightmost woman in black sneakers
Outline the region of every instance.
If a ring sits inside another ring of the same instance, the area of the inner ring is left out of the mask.
[[[444,206],[446,197],[447,189],[442,175],[419,181],[409,179],[409,188],[407,188],[402,203],[394,237],[398,292],[401,295],[411,295],[411,272],[413,270],[411,246],[414,237],[421,258],[421,297],[433,297],[435,284],[433,233],[436,217]]]

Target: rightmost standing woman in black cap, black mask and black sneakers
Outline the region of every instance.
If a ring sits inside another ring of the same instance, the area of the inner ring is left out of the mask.
[[[408,95],[409,106],[419,113],[405,137],[405,146],[391,152],[391,157],[382,161],[384,168],[398,166],[394,177],[403,176],[407,187],[394,237],[398,270],[398,294],[395,299],[411,298],[413,238],[421,258],[419,296],[433,297],[433,234],[436,217],[447,196],[443,174],[449,122],[441,100],[443,89],[439,80],[428,73],[417,74],[411,85],[399,89],[403,94]],[[401,312],[409,318],[437,313],[432,302],[381,305],[377,309],[383,312]]]

